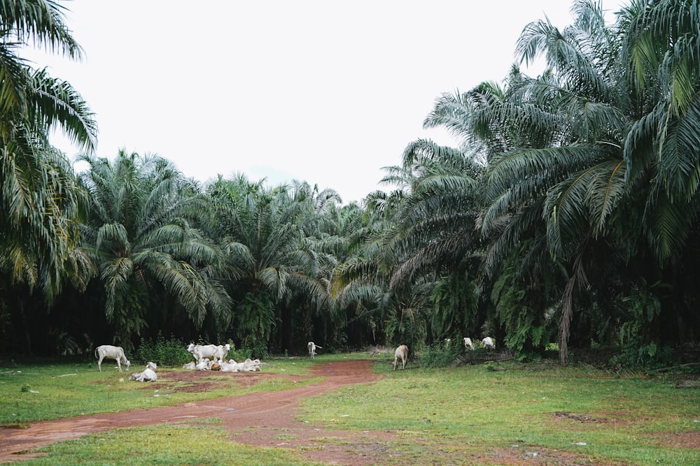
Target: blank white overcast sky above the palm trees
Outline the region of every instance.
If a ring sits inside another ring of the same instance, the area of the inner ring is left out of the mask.
[[[346,203],[391,189],[381,167],[412,141],[455,145],[423,119],[442,92],[503,80],[525,24],[572,22],[566,0],[60,3],[85,59],[28,57],[96,113],[98,156],[158,153],[201,181],[305,180]]]

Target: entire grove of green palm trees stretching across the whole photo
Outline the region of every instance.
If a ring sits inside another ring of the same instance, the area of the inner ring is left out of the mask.
[[[255,356],[494,337],[527,360],[687,363],[700,339],[700,0],[524,27],[502,82],[437,96],[386,191],[201,183],[97,156],[97,120],[21,57],[80,57],[69,11],[0,0],[0,355],[134,351],[158,335]],[[544,59],[541,75],[521,66]],[[504,69],[507,69],[504,59]],[[458,84],[458,83],[456,83]],[[76,173],[50,144],[82,152]],[[302,155],[300,155],[302,156]],[[694,362],[694,361],[692,361]]]

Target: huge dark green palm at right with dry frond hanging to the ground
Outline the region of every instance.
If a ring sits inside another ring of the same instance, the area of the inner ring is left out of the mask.
[[[514,67],[505,89],[443,96],[428,119],[488,161],[486,270],[519,256],[523,289],[559,282],[547,288],[561,290],[563,362],[576,302],[585,310],[591,292],[601,303],[629,293],[622,276],[634,261],[637,283],[671,283],[697,244],[697,8],[635,1],[608,27],[600,3],[577,1],[570,27],[544,20],[521,34],[522,61],[544,55],[545,73]]]

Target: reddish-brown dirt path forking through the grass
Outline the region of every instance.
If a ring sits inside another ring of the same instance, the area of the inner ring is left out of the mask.
[[[385,444],[387,439],[392,438],[391,434],[324,430],[295,421],[295,416],[301,398],[320,395],[342,386],[381,379],[381,375],[372,373],[371,367],[372,361],[328,363],[315,367],[313,374],[314,377],[327,378],[309,386],[216,398],[172,407],[41,421],[31,423],[26,429],[0,429],[0,463],[31,458],[22,453],[53,442],[76,439],[81,435],[113,428],[178,423],[194,418],[216,417],[221,418],[226,428],[230,430],[232,440],[242,444],[299,449],[313,444],[314,439],[319,437],[348,437],[350,442],[344,445],[324,442],[324,449],[299,451],[308,460],[350,466],[369,465],[376,462],[378,458],[375,456],[382,450],[381,444]],[[189,372],[189,374],[196,374],[196,372]],[[254,374],[232,375],[255,377]],[[271,375],[267,374],[267,376]],[[281,432],[284,433],[284,440],[279,439]]]

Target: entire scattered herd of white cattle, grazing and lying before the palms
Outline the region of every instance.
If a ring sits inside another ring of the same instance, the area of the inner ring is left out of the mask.
[[[444,340],[445,346],[449,346],[449,338]],[[496,347],[493,343],[491,337],[485,337],[481,340],[484,347],[492,349]],[[467,349],[474,349],[474,344],[471,338],[464,337],[464,347]],[[314,342],[309,342],[307,344],[307,349],[309,350],[309,356],[314,358],[316,356],[316,349],[323,349],[319,347]],[[190,343],[187,347],[187,351],[192,353],[195,361],[183,365],[183,369],[193,369],[193,370],[220,370],[221,372],[257,372],[260,370],[260,366],[263,364],[260,359],[247,358],[246,361],[242,363],[237,363],[236,361],[229,359],[224,361],[228,352],[231,351],[230,344],[194,344]],[[117,367],[119,372],[122,372],[122,364],[129,370],[131,365],[130,361],[124,354],[124,349],[122,347],[115,347],[111,344],[103,344],[94,350],[94,356],[97,358],[97,369],[102,372],[102,361],[105,359],[113,359],[117,361]],[[393,369],[396,370],[398,361],[401,361],[401,368],[406,368],[406,361],[408,359],[408,347],[405,344],[400,345],[394,351],[394,362]],[[158,375],[155,374],[155,370],[158,366],[155,363],[149,362],[146,364],[146,369],[143,372],[135,372],[129,377],[130,380],[136,380],[141,382],[150,382],[158,380]]]

